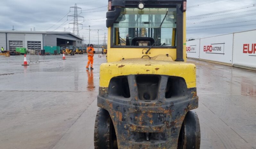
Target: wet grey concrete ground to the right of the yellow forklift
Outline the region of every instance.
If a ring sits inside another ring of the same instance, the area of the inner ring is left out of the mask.
[[[198,60],[201,148],[256,148],[256,72]]]

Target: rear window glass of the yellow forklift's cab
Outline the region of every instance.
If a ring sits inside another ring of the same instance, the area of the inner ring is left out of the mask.
[[[122,8],[113,25],[112,44],[175,46],[175,33],[176,8]]]

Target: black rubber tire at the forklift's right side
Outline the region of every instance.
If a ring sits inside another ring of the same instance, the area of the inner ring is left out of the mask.
[[[189,111],[183,121],[177,149],[200,149],[200,124],[195,112]]]

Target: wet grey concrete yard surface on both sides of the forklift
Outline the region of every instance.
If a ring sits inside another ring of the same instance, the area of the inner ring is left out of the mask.
[[[99,65],[87,55],[0,57],[0,149],[93,149]],[[27,58],[29,59],[29,57]],[[209,62],[197,66],[201,149],[256,149],[256,72]]]

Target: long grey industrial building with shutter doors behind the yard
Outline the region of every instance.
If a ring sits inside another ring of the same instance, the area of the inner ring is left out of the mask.
[[[41,50],[43,46],[82,46],[83,39],[70,32],[0,31],[0,47],[15,51],[16,47]]]

